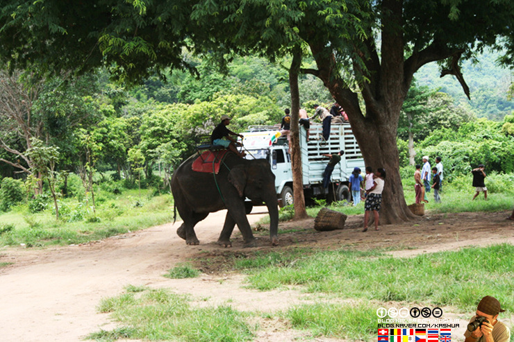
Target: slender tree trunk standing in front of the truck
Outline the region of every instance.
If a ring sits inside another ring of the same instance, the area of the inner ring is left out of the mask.
[[[291,132],[290,151],[292,167],[292,194],[295,205],[295,216],[293,219],[305,219],[307,211],[304,198],[304,182],[301,173],[301,150],[299,135],[300,119],[300,92],[298,89],[298,74],[301,65],[301,49],[295,48],[293,52],[291,67],[289,69],[289,86],[291,92]]]

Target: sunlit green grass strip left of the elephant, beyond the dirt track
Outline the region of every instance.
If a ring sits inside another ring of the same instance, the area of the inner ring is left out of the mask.
[[[119,196],[99,194],[96,214],[73,198],[63,200],[59,220],[51,207],[35,214],[26,205],[15,207],[0,214],[0,228],[6,230],[0,234],[0,246],[85,243],[172,221],[171,196],[150,196],[151,191],[142,190],[142,199],[138,190],[126,190]]]

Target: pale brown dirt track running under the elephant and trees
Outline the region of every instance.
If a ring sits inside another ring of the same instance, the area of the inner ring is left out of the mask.
[[[514,223],[508,212],[463,213],[427,216],[418,222],[386,225],[382,230],[360,232],[361,216],[347,221],[345,230],[315,232],[313,220],[285,223],[281,246],[320,248],[390,248],[399,256],[453,250],[462,246],[514,243]],[[262,215],[250,215],[257,221]],[[97,314],[101,298],[116,296],[128,284],[169,287],[177,293],[191,293],[200,304],[217,305],[227,301],[236,309],[274,311],[301,300],[297,291],[258,292],[242,289],[240,275],[204,274],[190,280],[169,280],[162,275],[177,262],[196,256],[223,255],[240,251],[242,239],[235,234],[233,248],[217,244],[224,212],[211,214],[199,223],[200,246],[186,246],[176,236],[175,225],[160,225],[83,246],[48,250],[1,248],[0,262],[13,265],[0,268],[0,341],[81,341],[100,328],[115,327],[108,315]],[[267,237],[260,237],[259,250],[272,249]],[[417,249],[405,249],[417,248]],[[254,250],[253,248],[251,250]],[[215,270],[214,270],[215,271]],[[207,300],[206,300],[207,298]],[[290,341],[299,337],[287,327],[259,332],[258,341]]]

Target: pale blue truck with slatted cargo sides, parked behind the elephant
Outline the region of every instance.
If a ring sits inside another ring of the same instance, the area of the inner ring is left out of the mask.
[[[365,170],[364,159],[360,153],[349,123],[332,123],[331,134],[327,141],[322,139],[321,123],[310,124],[309,140],[306,130],[300,127],[301,169],[306,201],[310,198],[325,197],[332,200],[351,200],[348,188],[349,176],[354,167]],[[272,165],[275,175],[276,194],[281,206],[290,205],[292,196],[292,169],[288,142],[285,137],[276,137],[278,132],[274,126],[250,126],[242,142],[247,150],[247,158],[267,159]],[[324,154],[335,154],[345,151],[341,162],[335,166],[328,189],[322,187],[323,172],[328,157]],[[364,176],[364,175],[363,175]],[[335,196],[334,196],[335,195]]]

